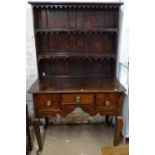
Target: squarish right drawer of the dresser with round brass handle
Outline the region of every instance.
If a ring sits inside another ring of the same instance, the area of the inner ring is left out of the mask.
[[[96,95],[97,111],[115,111],[121,108],[121,94],[104,93]]]

